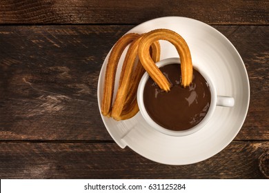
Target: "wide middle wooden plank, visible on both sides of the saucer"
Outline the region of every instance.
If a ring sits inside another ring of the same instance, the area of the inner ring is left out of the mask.
[[[112,140],[99,70],[133,26],[0,26],[0,140]],[[268,26],[214,26],[246,63],[251,100],[238,140],[268,140]]]

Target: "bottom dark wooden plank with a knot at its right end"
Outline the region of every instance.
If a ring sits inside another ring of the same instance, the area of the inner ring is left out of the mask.
[[[268,148],[269,142],[234,141],[206,161],[163,165],[114,143],[1,142],[0,178],[263,179],[259,157]]]

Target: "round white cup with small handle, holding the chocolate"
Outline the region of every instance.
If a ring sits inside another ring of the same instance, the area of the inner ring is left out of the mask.
[[[180,63],[179,58],[169,58],[169,59],[163,59],[156,63],[156,65],[160,68],[163,65],[168,65],[172,63]],[[212,114],[214,114],[216,106],[223,106],[223,107],[232,107],[235,105],[235,99],[230,96],[218,96],[216,92],[215,85],[212,83],[208,75],[204,72],[202,72],[201,69],[197,68],[195,64],[193,64],[193,67],[195,70],[201,73],[201,75],[206,79],[206,81],[209,84],[210,92],[211,92],[211,102],[210,107],[208,109],[208,112],[206,116],[201,120],[200,123],[195,125],[194,127],[188,129],[188,130],[181,130],[181,131],[175,131],[175,130],[168,130],[166,128],[163,128],[161,125],[157,124],[155,121],[153,121],[146,111],[144,101],[143,101],[143,90],[145,88],[146,82],[148,81],[149,75],[148,72],[145,72],[143,74],[143,77],[140,80],[139,87],[137,90],[137,103],[139,105],[139,110],[143,116],[143,118],[146,120],[146,122],[152,126],[152,128],[155,128],[155,130],[163,133],[168,134],[170,136],[186,136],[189,134],[193,134],[203,128],[204,125],[209,121]]]

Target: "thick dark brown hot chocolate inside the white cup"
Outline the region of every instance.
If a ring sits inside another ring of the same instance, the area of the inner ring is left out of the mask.
[[[193,69],[190,86],[181,86],[180,64],[169,64],[160,68],[172,83],[170,92],[163,92],[149,78],[146,82],[143,101],[150,117],[169,130],[188,130],[197,125],[210,106],[211,94],[206,79]]]

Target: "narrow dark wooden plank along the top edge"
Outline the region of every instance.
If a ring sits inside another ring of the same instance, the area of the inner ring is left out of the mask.
[[[268,25],[268,1],[10,1],[0,4],[0,23],[130,23],[183,16],[210,24]]]

